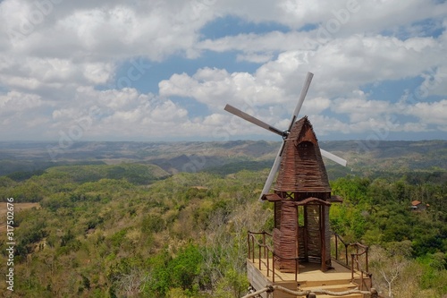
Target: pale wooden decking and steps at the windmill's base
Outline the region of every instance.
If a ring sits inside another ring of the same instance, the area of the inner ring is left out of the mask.
[[[299,264],[299,274],[295,281],[295,273],[284,273],[278,269],[274,270],[274,278],[272,272],[272,260],[269,262],[269,272],[267,277],[267,260],[261,259],[261,269],[259,269],[259,259],[247,260],[247,270],[250,284],[257,290],[264,288],[266,285],[282,285],[292,291],[306,291],[312,289],[325,289],[333,292],[343,292],[358,287],[353,284],[351,271],[336,261],[333,261],[333,268],[323,272],[321,266],[316,263]],[[365,277],[363,277],[365,279]],[[354,280],[360,280],[359,272],[354,272]],[[264,296],[263,296],[264,297]],[[266,295],[265,295],[266,297]],[[283,292],[274,292],[274,298],[297,298],[304,296],[294,296]],[[327,295],[317,295],[318,298],[333,297]],[[350,294],[344,297],[358,297],[361,294]]]

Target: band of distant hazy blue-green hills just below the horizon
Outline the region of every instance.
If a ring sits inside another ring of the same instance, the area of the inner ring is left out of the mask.
[[[70,145],[70,146],[68,146]],[[270,167],[280,142],[0,142],[0,175],[32,172],[51,166],[138,162],[164,171],[215,174]],[[326,160],[330,178],[382,172],[443,172],[447,169],[447,140],[320,141],[320,147],[348,160],[346,168]]]

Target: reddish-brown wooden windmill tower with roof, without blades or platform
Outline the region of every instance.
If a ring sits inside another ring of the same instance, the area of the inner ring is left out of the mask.
[[[340,201],[331,196],[318,141],[307,117],[292,125],[283,146],[283,158],[274,193],[263,200],[274,202],[274,251],[284,259],[276,266],[284,272],[299,263],[316,262],[325,271],[331,266],[329,206]]]

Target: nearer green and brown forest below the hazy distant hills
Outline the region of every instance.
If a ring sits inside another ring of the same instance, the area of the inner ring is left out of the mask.
[[[13,295],[241,297],[247,232],[273,228],[273,206],[257,200],[268,171],[169,174],[122,163],[0,176],[1,200],[16,206]],[[344,200],[331,207],[333,232],[370,247],[375,288],[447,294],[445,172],[343,175],[331,184]],[[414,200],[426,210],[412,210]],[[36,204],[18,210],[25,202]],[[3,235],[0,246],[6,264]],[[9,293],[4,282],[0,292]]]

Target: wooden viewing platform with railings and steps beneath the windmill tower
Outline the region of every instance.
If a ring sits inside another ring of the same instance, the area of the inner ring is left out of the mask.
[[[367,273],[367,246],[360,243],[344,243],[338,234],[333,234],[331,247],[334,249],[330,266],[322,270],[321,261],[302,261],[299,258],[288,258],[295,263],[294,268],[280,270],[278,260],[283,259],[273,251],[269,243],[272,235],[266,232],[249,232],[247,273],[249,283],[259,291],[267,285],[282,286],[294,292],[333,292],[338,297],[365,298],[372,290],[371,275]],[[350,256],[350,257],[349,257]],[[285,260],[285,259],[283,259]],[[309,259],[310,260],[310,259]],[[281,263],[280,263],[281,264]],[[356,294],[341,294],[353,292]],[[259,294],[264,298],[304,298],[306,294],[290,294],[274,291]],[[329,293],[319,293],[318,298],[334,297]]]

